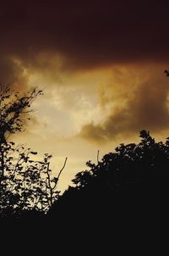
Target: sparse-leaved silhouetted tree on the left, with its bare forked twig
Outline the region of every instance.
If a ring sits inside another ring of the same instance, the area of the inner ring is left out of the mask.
[[[0,215],[20,215],[28,211],[46,213],[57,200],[57,181],[50,169],[52,155],[36,160],[36,152],[15,146],[9,136],[22,131],[30,119],[31,103],[42,91],[36,88],[20,96],[10,88],[0,88]],[[67,159],[63,164],[63,168]]]

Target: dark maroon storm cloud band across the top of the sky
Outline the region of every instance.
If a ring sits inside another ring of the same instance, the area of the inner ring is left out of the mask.
[[[166,1],[5,2],[0,10],[0,53],[3,59],[15,56],[28,67],[38,65],[38,53],[59,53],[66,67],[75,70],[167,60],[167,5]]]

